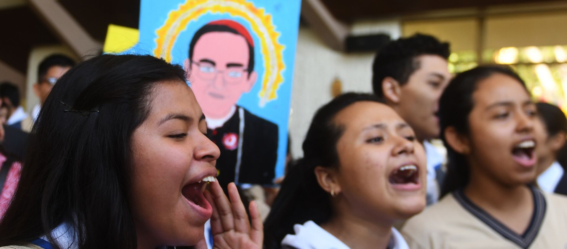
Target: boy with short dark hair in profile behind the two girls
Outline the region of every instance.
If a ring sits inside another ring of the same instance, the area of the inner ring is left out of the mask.
[[[391,41],[376,53],[374,94],[391,106],[416,132],[427,154],[428,204],[439,198],[445,158],[428,140],[439,138],[438,102],[451,79],[449,44],[417,34]]]

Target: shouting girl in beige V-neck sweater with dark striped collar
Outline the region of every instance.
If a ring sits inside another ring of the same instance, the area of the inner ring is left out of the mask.
[[[567,198],[536,179],[535,104],[509,68],[451,80],[439,102],[447,176],[439,203],[411,218],[411,248],[564,248]]]

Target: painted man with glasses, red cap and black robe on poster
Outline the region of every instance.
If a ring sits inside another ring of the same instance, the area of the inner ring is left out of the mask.
[[[250,33],[232,20],[210,22],[193,35],[184,66],[208,135],[221,150],[221,186],[232,181],[272,184],[278,126],[236,105],[257,79]]]

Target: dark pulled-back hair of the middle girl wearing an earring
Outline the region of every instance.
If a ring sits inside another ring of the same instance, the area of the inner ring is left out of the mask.
[[[332,215],[330,195],[319,186],[316,166],[337,168],[336,144],[344,127],[333,122],[339,111],[359,101],[380,102],[378,97],[361,93],[345,93],[321,107],[311,121],[303,141],[303,158],[287,169],[280,192],[264,223],[266,248],[279,248],[293,225],[314,221],[324,224]]]

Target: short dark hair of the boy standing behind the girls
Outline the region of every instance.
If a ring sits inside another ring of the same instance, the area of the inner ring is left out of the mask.
[[[411,37],[399,38],[384,45],[376,52],[372,65],[372,88],[379,98],[384,97],[382,80],[390,76],[400,85],[407,83],[409,76],[420,68],[416,57],[431,54],[445,59],[450,50],[447,42],[439,42],[437,38],[417,33]]]

